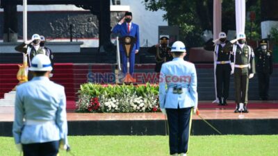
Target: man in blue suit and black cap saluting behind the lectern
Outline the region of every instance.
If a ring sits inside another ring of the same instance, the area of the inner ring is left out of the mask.
[[[124,36],[132,36],[135,38],[136,42],[134,42],[133,49],[131,49],[131,53],[129,53],[129,73],[133,74],[134,70],[134,62],[135,62],[135,54],[138,53],[140,49],[140,40],[139,40],[139,26],[131,22],[132,13],[126,12],[124,17],[119,21],[119,23],[114,26],[112,33],[119,33],[120,37]],[[123,44],[120,44],[120,53],[122,60],[122,73],[126,76],[127,66],[126,66],[126,54],[124,51]]]

